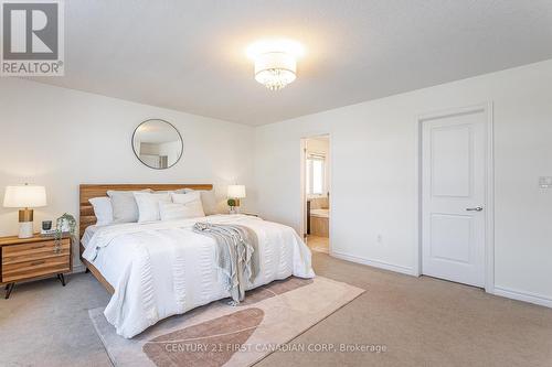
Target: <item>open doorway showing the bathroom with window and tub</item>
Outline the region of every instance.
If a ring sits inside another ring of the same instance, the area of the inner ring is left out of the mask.
[[[305,242],[314,251],[330,250],[330,137],[302,139],[301,205]]]

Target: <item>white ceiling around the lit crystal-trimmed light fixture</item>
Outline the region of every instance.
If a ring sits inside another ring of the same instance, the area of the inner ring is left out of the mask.
[[[551,0],[71,0],[65,30],[40,82],[253,126],[552,58]],[[307,50],[283,90],[263,37]]]

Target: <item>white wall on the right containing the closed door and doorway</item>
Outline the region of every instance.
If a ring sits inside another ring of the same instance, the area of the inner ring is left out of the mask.
[[[330,133],[331,247],[412,273],[420,115],[493,102],[496,291],[552,306],[552,61],[256,129],[257,211],[300,225],[300,138]],[[381,244],[378,236],[382,236]]]

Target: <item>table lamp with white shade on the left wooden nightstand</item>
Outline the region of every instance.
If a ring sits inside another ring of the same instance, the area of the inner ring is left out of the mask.
[[[46,206],[46,190],[44,186],[29,184],[7,186],[3,197],[4,207],[18,207],[19,211],[19,238],[33,236],[33,209]]]

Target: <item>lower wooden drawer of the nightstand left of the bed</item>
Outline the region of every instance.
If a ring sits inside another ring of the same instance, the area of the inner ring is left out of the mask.
[[[54,258],[4,265],[2,266],[2,281],[12,282],[28,278],[68,271],[71,271],[68,255],[57,256]]]

